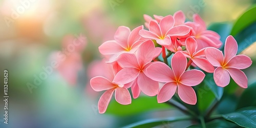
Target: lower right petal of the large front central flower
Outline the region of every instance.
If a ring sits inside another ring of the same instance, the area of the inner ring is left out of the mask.
[[[197,95],[192,87],[178,84],[178,95],[180,99],[187,104],[195,105],[197,103]]]

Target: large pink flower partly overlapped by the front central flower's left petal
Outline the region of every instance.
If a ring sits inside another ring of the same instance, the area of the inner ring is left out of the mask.
[[[158,82],[148,78],[145,75],[145,69],[148,64],[160,52],[155,49],[152,40],[147,40],[139,47],[137,54],[123,53],[119,56],[117,62],[123,67],[113,82],[129,83],[132,86],[133,97],[137,98],[140,90],[148,96],[155,96],[158,93]]]

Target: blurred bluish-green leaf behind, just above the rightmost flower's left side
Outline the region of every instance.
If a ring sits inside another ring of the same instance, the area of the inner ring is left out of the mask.
[[[208,30],[215,31],[221,36],[220,40],[223,42],[223,44],[226,40],[226,37],[230,34],[231,29],[231,23],[213,23],[208,26]]]

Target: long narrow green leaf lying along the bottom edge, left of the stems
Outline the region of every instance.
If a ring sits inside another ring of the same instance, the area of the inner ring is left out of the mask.
[[[169,117],[169,118],[155,118],[155,119],[147,119],[147,120],[142,120],[124,127],[154,127],[157,125],[166,125],[170,122],[175,122],[175,121],[181,121],[181,120],[190,120],[192,119],[191,117],[188,116],[183,116],[183,117]]]

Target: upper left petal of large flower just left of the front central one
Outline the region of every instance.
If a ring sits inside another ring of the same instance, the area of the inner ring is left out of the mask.
[[[119,65],[123,68],[137,68],[139,63],[134,54],[131,53],[122,53],[119,55],[118,60]]]

